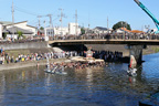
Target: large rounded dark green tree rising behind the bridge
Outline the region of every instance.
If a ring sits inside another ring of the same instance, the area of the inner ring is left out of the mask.
[[[131,30],[130,24],[124,21],[119,21],[118,23],[114,24],[113,29],[126,28],[127,30]]]

